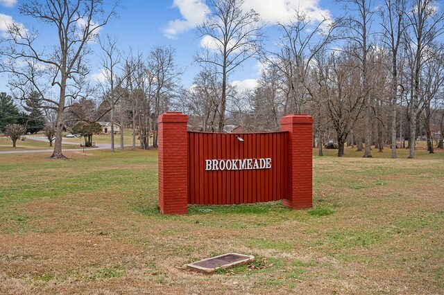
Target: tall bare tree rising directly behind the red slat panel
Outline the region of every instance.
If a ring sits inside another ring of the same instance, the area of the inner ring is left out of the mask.
[[[254,10],[244,12],[243,3],[244,0],[210,0],[213,8],[210,17],[198,26],[198,35],[203,37],[205,48],[196,55],[196,62],[214,64],[221,75],[219,132],[223,132],[225,124],[228,76],[259,51],[262,41],[257,26],[259,15]]]

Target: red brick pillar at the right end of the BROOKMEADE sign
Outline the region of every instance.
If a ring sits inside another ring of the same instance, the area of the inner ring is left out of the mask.
[[[313,117],[291,114],[280,120],[282,131],[289,132],[289,198],[282,204],[293,209],[311,208],[313,190]]]

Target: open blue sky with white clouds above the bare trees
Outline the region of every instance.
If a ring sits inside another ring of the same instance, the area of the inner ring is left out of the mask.
[[[51,44],[56,41],[54,31],[47,26],[37,23],[31,18],[21,17],[17,6],[26,0],[0,0],[0,34],[4,33],[5,23],[19,22],[26,28],[40,30],[42,43]],[[112,2],[105,0],[105,2]],[[334,16],[338,13],[341,4],[334,1],[321,0],[245,0],[246,9],[253,8],[262,16],[267,26],[268,46],[273,46],[277,39],[276,31],[271,24],[276,21],[286,21],[289,13],[295,7],[309,13],[312,18],[321,14]],[[173,46],[176,48],[176,62],[186,69],[182,83],[189,87],[194,75],[198,73],[198,65],[193,64],[193,57],[200,48],[200,39],[196,36],[196,25],[205,19],[207,11],[205,0],[123,0],[117,12],[119,17],[110,21],[110,24],[101,30],[101,34],[115,36],[119,49],[128,52],[140,51],[148,54],[155,45]],[[99,48],[93,45],[96,54]],[[97,57],[89,57],[92,64],[92,74],[100,73]],[[259,70],[255,60],[249,60],[232,76],[239,84],[254,85],[259,77]],[[0,74],[0,91],[9,93],[6,75]]]

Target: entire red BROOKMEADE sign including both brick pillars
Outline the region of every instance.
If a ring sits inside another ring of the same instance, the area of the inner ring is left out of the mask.
[[[187,132],[188,117],[165,113],[159,123],[159,206],[186,214],[187,204],[244,204],[282,199],[311,207],[313,118],[282,118],[282,132]]]

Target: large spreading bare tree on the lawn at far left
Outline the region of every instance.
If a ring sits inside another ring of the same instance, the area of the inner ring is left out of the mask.
[[[20,24],[8,26],[8,37],[3,38],[10,46],[1,49],[1,57],[8,59],[1,64],[1,71],[11,74],[12,90],[37,91],[46,108],[57,111],[53,159],[65,158],[62,154],[64,111],[71,100],[85,95],[88,42],[108,23],[116,5],[107,5],[110,10],[105,11],[105,0],[23,1],[19,4],[20,14],[55,28],[57,42],[39,48],[35,42],[38,33],[31,33]]]

